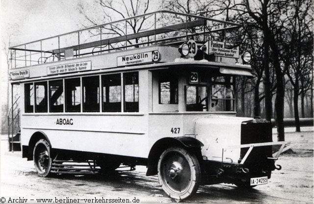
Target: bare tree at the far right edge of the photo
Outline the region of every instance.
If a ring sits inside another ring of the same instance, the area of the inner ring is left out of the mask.
[[[311,70],[313,67],[313,2],[312,0],[291,0],[283,9],[284,26],[280,37],[282,52],[280,54],[285,64],[285,71],[293,86],[293,107],[296,132],[300,132],[298,100],[301,95],[301,113],[304,113],[304,97],[311,87]]]

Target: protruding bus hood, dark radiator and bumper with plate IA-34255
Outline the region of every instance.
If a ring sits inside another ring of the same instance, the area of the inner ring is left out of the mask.
[[[264,119],[212,115],[195,121],[202,148],[202,183],[251,188],[268,183],[275,166],[272,125]]]

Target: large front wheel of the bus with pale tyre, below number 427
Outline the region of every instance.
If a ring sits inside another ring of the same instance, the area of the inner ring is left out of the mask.
[[[193,195],[199,186],[200,164],[194,154],[181,147],[170,147],[158,161],[158,178],[162,189],[174,199]]]

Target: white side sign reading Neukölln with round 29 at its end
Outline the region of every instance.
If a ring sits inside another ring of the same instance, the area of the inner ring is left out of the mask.
[[[158,50],[150,52],[141,52],[131,55],[119,56],[117,57],[117,66],[129,66],[150,62],[157,62],[160,60],[160,53]]]

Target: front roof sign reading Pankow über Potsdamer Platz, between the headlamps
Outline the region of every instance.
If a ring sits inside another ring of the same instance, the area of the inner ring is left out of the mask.
[[[219,57],[239,58],[239,47],[233,43],[209,41],[209,53],[212,52]]]

